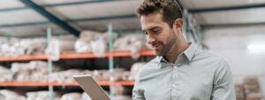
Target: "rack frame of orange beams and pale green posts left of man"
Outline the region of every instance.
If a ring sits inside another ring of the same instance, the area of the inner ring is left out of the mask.
[[[113,39],[112,39],[112,25],[109,25],[109,35],[110,35],[110,41],[109,41],[109,49],[108,52],[105,53],[104,58],[109,59],[109,70],[110,72],[113,72],[114,68],[114,58],[116,57],[130,57],[131,53],[129,51],[113,51]],[[48,44],[51,39],[51,29],[47,29],[47,39],[48,39]],[[155,56],[155,51],[153,50],[146,50],[146,51],[141,51],[140,52],[141,56]],[[69,60],[69,59],[95,59],[98,58],[92,53],[86,53],[86,54],[77,54],[77,53],[63,53],[60,55],[60,60]],[[53,61],[49,59],[49,55],[46,54],[35,54],[35,55],[22,55],[19,57],[0,57],[0,61],[37,61],[37,60],[42,60],[42,61],[48,61],[48,69],[49,69],[49,75],[53,73]],[[125,81],[120,81],[120,82],[113,82],[113,80],[110,81],[101,81],[98,82],[102,86],[109,86],[110,87],[110,96],[113,96],[113,89],[112,86],[115,85],[123,85],[123,86],[133,86],[134,82],[125,82]],[[54,87],[57,86],[75,86],[78,87],[77,82],[49,82],[47,81],[42,81],[42,82],[0,82],[0,87],[48,87],[49,89],[49,95],[50,98],[49,100],[54,100]]]

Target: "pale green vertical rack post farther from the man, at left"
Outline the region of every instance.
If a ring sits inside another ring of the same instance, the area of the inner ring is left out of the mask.
[[[50,44],[50,39],[51,39],[51,29],[47,28],[47,41],[48,41],[48,45]],[[52,61],[49,59],[48,57],[48,71],[49,71],[49,75],[52,74]],[[49,76],[48,75],[48,76]],[[49,78],[48,78],[48,84],[49,84],[49,100],[54,100],[54,96],[53,96],[53,86],[52,84],[49,83]]]

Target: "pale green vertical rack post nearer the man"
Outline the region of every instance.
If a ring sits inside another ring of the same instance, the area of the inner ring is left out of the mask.
[[[108,25],[108,33],[109,33],[109,70],[110,73],[113,73],[114,62],[113,62],[113,26],[112,24]],[[113,76],[110,75],[110,97],[113,96],[113,85],[114,79]]]

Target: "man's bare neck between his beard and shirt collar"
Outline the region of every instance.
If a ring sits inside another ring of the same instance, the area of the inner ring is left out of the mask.
[[[163,57],[166,61],[175,63],[175,61],[178,59],[178,55],[183,53],[188,47],[189,44],[187,44],[186,42],[176,44],[170,49],[169,53],[164,55]]]

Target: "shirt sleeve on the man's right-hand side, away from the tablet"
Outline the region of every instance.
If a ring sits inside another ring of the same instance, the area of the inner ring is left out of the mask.
[[[211,100],[236,100],[230,66],[225,60],[220,62],[214,76]]]

